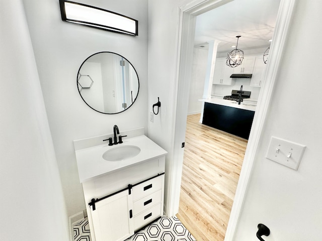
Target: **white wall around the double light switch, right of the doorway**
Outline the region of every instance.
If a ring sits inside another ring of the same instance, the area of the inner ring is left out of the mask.
[[[320,240],[322,102],[319,0],[297,1],[234,240]],[[265,158],[271,136],[306,145],[297,171]]]

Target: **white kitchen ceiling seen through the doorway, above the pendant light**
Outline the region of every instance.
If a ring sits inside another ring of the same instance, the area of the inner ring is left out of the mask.
[[[221,41],[218,52],[267,48],[272,39],[280,0],[235,0],[197,16],[195,47]]]

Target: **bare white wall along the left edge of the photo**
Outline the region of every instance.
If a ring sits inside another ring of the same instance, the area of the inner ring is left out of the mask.
[[[1,240],[69,240],[68,218],[23,4],[0,1]]]

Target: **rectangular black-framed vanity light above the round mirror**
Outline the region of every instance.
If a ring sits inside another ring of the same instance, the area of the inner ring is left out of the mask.
[[[61,19],[115,33],[138,35],[138,21],[108,10],[59,0]]]

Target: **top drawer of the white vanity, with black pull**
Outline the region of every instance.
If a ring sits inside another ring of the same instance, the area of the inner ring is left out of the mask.
[[[160,175],[134,186],[132,188],[133,201],[145,197],[159,189],[162,189],[163,180],[164,175]]]

